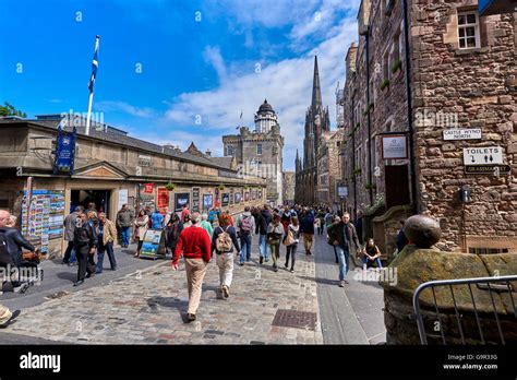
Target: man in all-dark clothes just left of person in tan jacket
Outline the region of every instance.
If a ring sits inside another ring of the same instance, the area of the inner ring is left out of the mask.
[[[73,286],[79,286],[84,283],[84,278],[88,278],[95,273],[94,254],[97,247],[97,237],[85,213],[81,214],[81,218],[77,219],[73,244],[79,262],[77,281]]]

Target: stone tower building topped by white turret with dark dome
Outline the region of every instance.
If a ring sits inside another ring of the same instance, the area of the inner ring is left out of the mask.
[[[266,200],[281,204],[284,136],[275,110],[267,99],[255,114],[255,129],[241,127],[239,134],[223,136],[224,154],[235,156],[239,170],[267,179]]]

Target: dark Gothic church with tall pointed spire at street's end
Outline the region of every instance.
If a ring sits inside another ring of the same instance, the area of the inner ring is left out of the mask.
[[[314,75],[312,81],[312,100],[305,112],[305,131],[303,139],[303,158],[298,156],[296,167],[297,203],[313,204],[316,201],[317,183],[317,150],[324,132],[330,131],[328,107],[323,107],[322,88],[320,85],[320,70],[317,57],[314,57]]]

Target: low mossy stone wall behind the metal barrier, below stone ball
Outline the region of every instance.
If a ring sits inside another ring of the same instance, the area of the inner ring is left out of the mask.
[[[418,270],[416,270],[418,269]],[[384,320],[388,344],[420,344],[417,321],[412,307],[412,295],[417,287],[428,281],[515,275],[517,254],[468,254],[441,252],[435,249],[418,249],[407,246],[389,264],[396,271],[394,278],[384,278]],[[513,297],[517,296],[517,282],[512,282]],[[494,321],[492,299],[486,289],[471,285],[483,335],[489,344],[501,344]],[[436,316],[433,294],[425,289],[420,296],[423,322],[430,344],[441,344],[440,329],[447,344],[461,344],[454,311],[454,301],[448,287],[436,287]],[[479,330],[470,292],[466,285],[454,286],[454,295],[467,344],[480,344]],[[517,319],[512,298],[507,292],[492,292],[506,344],[517,343]]]

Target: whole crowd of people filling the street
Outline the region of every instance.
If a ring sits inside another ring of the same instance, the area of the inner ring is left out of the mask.
[[[111,270],[117,270],[113,249],[116,240],[122,248],[128,248],[133,230],[133,241],[136,242],[134,257],[139,258],[146,231],[163,230],[165,249],[172,261],[172,269],[178,270],[180,259],[184,259],[189,289],[187,320],[193,321],[211,260],[215,256],[219,269],[220,294],[223,298],[228,298],[235,261],[242,266],[252,260],[254,238],[258,239],[258,264],[265,265],[270,260],[274,272],[278,272],[281,265],[281,246],[286,247],[284,266],[293,273],[300,241],[303,240],[305,256],[311,257],[314,235],[322,236],[325,233],[327,244],[334,249],[336,263],[339,264],[339,286],[348,284],[346,278],[353,251],[358,259],[361,259],[364,269],[371,265],[381,269],[382,252],[373,238],[365,239],[362,246],[360,221],[359,218],[353,224],[349,213],[324,206],[245,206],[235,222],[228,210],[221,211],[219,207],[201,214],[192,213],[188,204],[178,213],[169,212],[168,209],[160,212],[146,206],[135,216],[128,204],[123,204],[112,222],[91,202],[87,209],[76,206],[64,219],[64,240],[68,245],[62,263],[77,263],[77,277],[73,285],[79,286],[85,278],[103,273],[106,253]],[[408,244],[404,235],[404,222],[400,223],[401,228],[397,235],[398,251]],[[13,223],[13,217],[8,212],[0,211],[0,265],[20,266],[22,248],[36,251],[14,228],[14,224],[15,221]],[[13,278],[13,286],[19,290],[23,289],[24,284]],[[9,324],[17,313],[19,310],[10,312],[0,305],[0,326]]]

